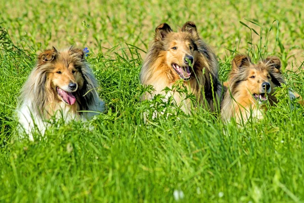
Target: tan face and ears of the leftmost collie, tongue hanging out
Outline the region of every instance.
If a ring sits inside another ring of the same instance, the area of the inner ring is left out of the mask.
[[[47,50],[39,56],[39,64],[50,70],[48,81],[57,99],[69,105],[75,103],[74,93],[84,85],[81,66],[78,64],[83,60],[84,53],[81,49],[70,48],[67,51],[58,52]]]

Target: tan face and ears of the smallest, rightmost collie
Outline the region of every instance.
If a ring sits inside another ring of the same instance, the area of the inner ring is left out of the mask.
[[[280,83],[276,76],[280,74],[281,63],[277,57],[269,57],[257,64],[251,63],[248,56],[239,55],[233,60],[233,74],[238,78],[235,81],[234,92],[248,96],[253,102],[263,104],[273,96],[276,87]],[[282,78],[282,76],[280,75]]]

